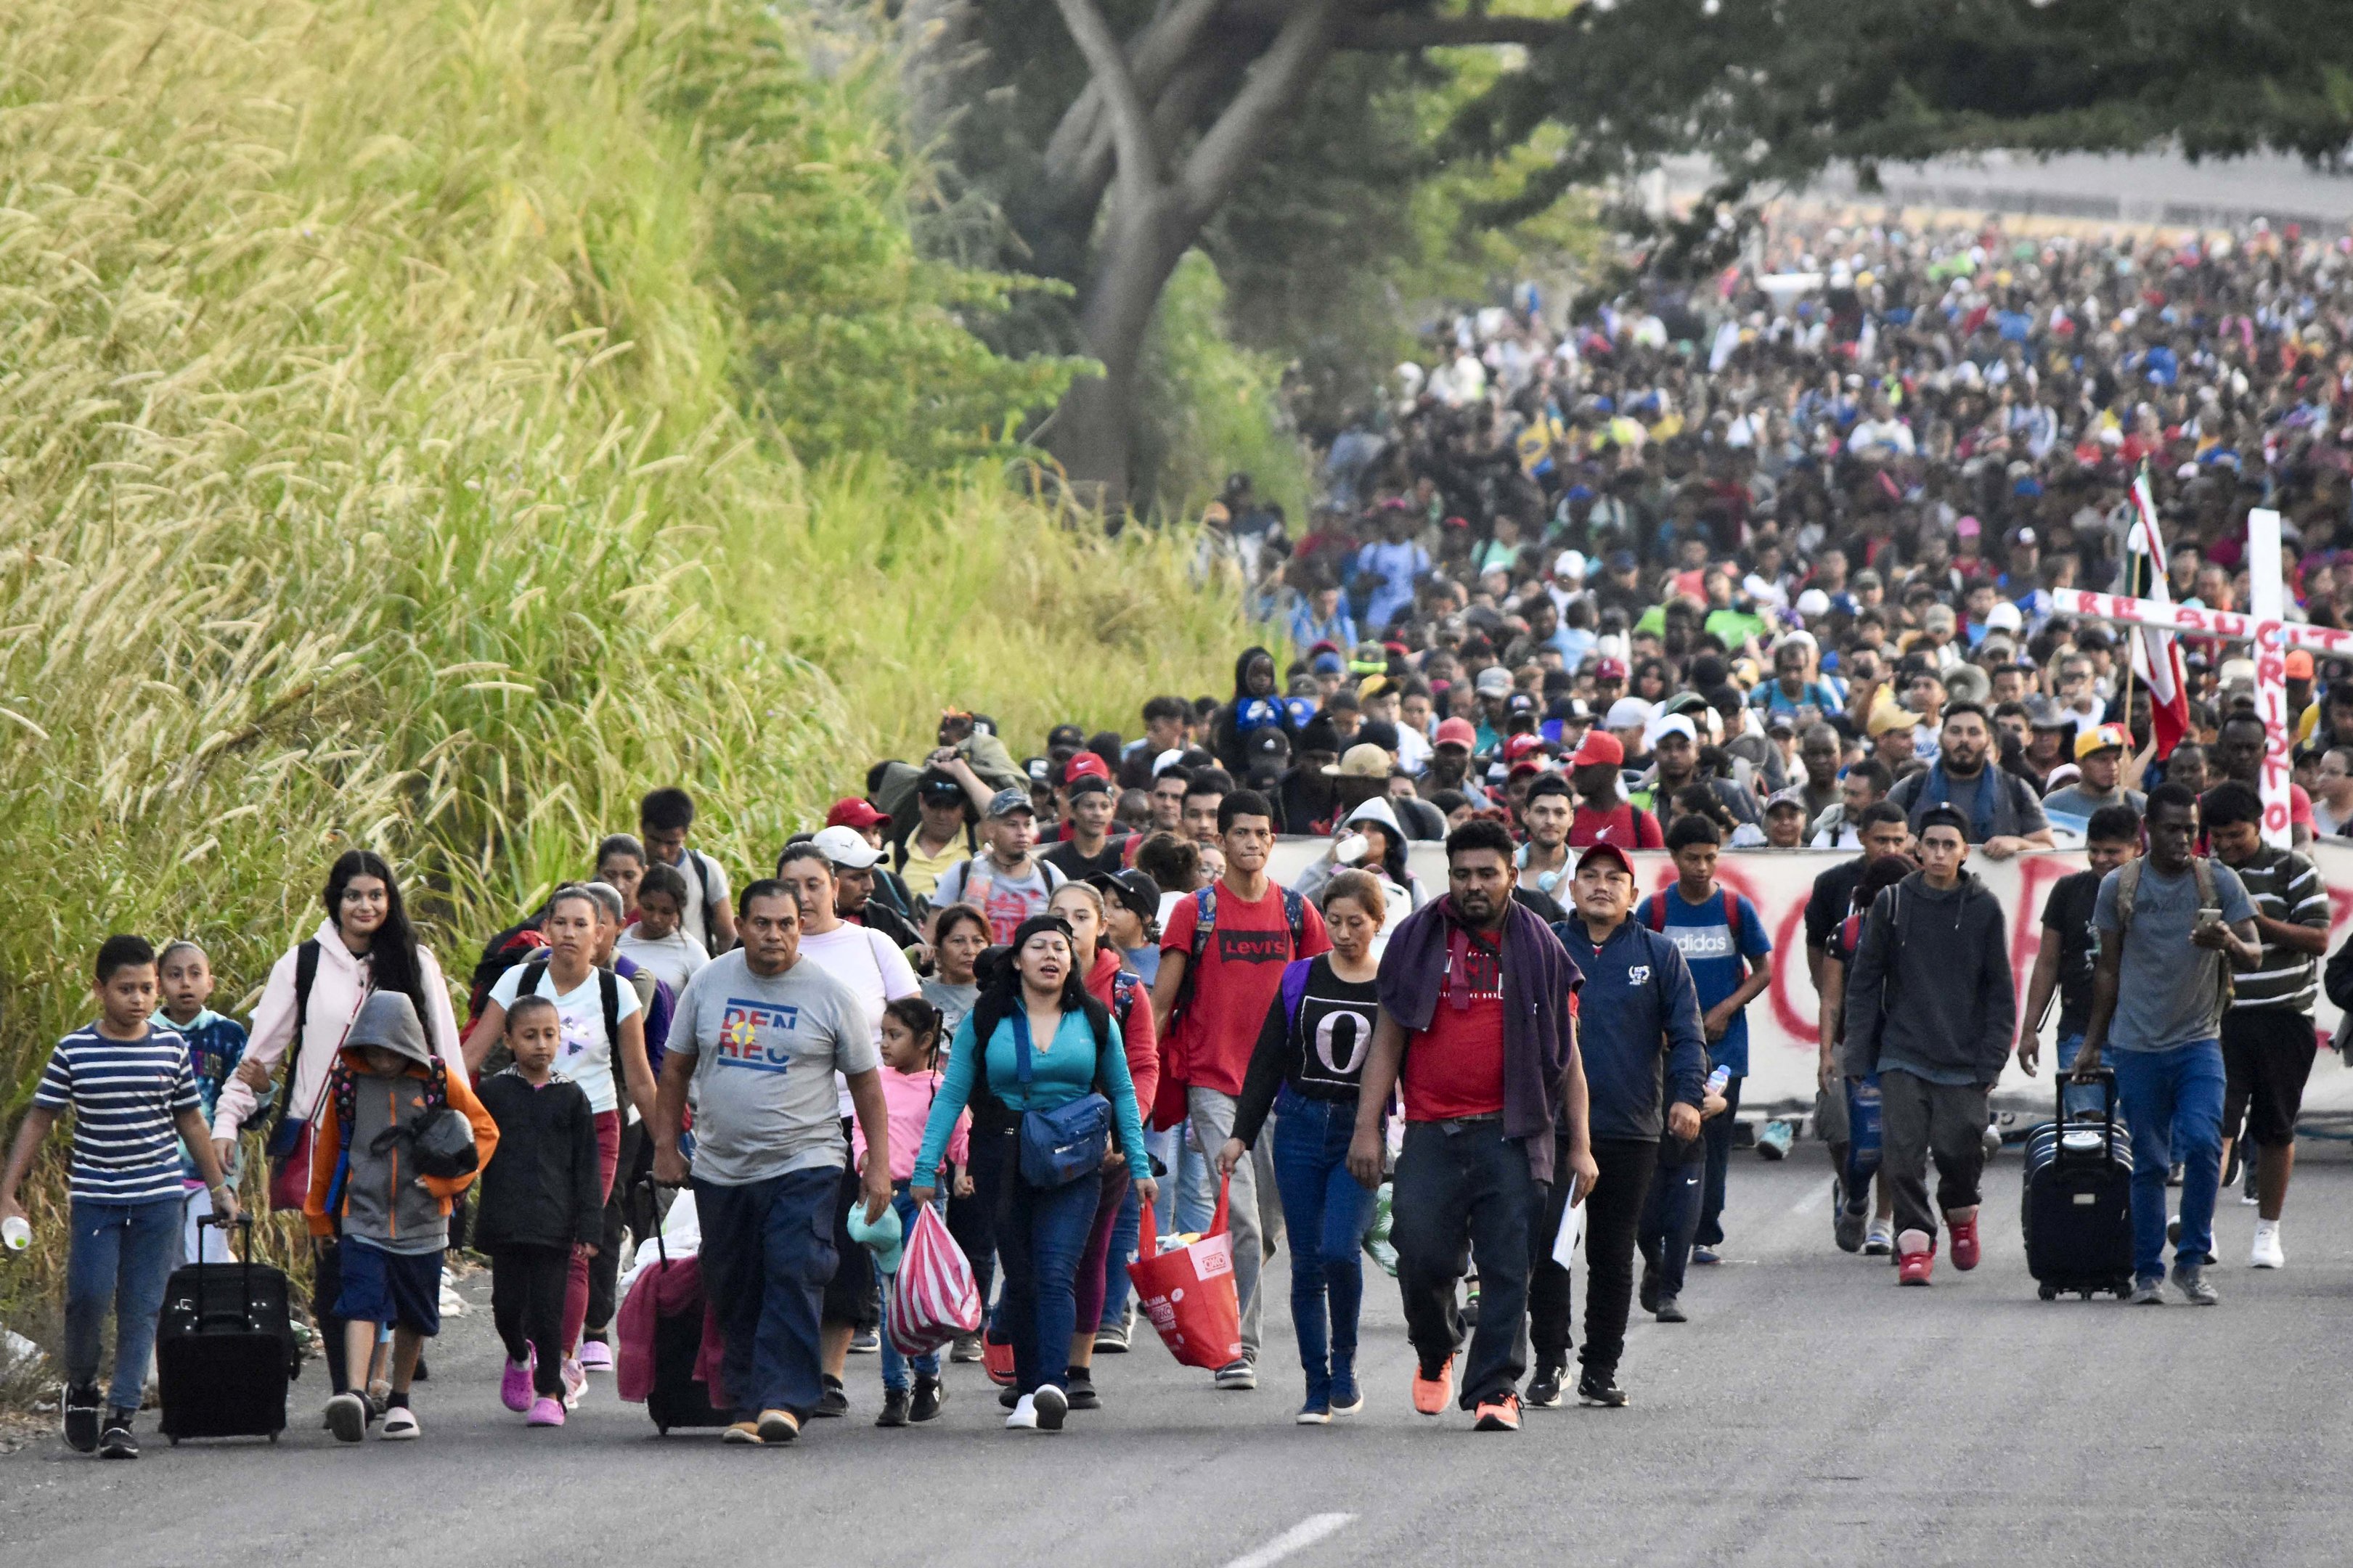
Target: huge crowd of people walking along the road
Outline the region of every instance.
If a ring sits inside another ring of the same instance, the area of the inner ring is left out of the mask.
[[[1746,1010],[1800,961],[1718,881],[1727,850],[1852,852],[1802,954],[1838,1248],[1904,1285],[1939,1248],[1979,1264],[1988,1092],[2040,1069],[2057,1001],[2068,1109],[2113,1083],[2129,1128],[2132,1300],[2165,1300],[2172,1248],[2174,1295],[2217,1302],[2231,1170],[2249,1262],[2282,1267],[2329,928],[2304,850],[2353,822],[2353,678],[2287,657],[2280,848],[2245,650],[2186,647],[2186,735],[2160,737],[2132,643],[2052,591],[2238,607],[2271,506],[2294,614],[2353,624],[2353,242],[1791,221],[1685,294],[1534,306],[1400,367],[1304,532],[1228,485],[1200,567],[1268,631],[1231,692],[1151,697],[1139,735],[1016,756],[951,709],[765,866],[696,848],[694,800],[656,789],[485,944],[464,1024],[365,850],[249,1034],[209,1012],[200,942],[108,939],[99,1019],[0,1172],[19,1220],[73,1114],[68,1441],[136,1453],[162,1278],[240,1189],[306,1215],[341,1441],[419,1434],[449,1245],[492,1260],[506,1406],[560,1427],[680,1189],[732,1443],[849,1413],[861,1349],[882,1424],[941,1417],[941,1361],[875,1333],[871,1241],[925,1208],[993,1302],[948,1361],[988,1366],[1007,1427],[1061,1429],[1136,1337],[1144,1217],[1198,1234],[1219,1194],[1240,1354],[1214,1387],[1259,1384],[1287,1245],[1299,1422],[1365,1403],[1367,1257],[1424,1415],[1518,1429],[1572,1349],[1574,1396],[1624,1406],[1628,1314],[1685,1321],[1722,1245]],[[2160,560],[2129,546],[2137,483]],[[1278,878],[1285,836],[1315,845]],[[2049,888],[2021,1005],[1967,866],[2049,848],[2089,869]],[[1642,850],[1673,862],[1649,897]],[[2353,963],[2327,970],[2353,1001]]]

